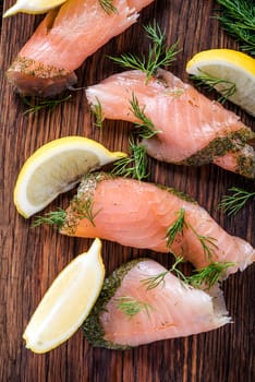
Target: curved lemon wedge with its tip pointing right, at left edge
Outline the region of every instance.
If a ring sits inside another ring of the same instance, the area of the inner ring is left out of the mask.
[[[96,141],[66,136],[38,148],[22,167],[14,188],[17,212],[29,217],[60,193],[71,190],[90,170],[126,156]]]

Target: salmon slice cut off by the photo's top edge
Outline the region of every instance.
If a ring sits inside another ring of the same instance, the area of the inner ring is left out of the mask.
[[[99,0],[68,0],[50,11],[7,72],[16,91],[53,96],[76,83],[74,70],[134,24],[138,11],[154,0],[113,0],[106,12]]]

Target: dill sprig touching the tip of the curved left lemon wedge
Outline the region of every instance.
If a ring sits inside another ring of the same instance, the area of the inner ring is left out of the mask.
[[[142,180],[148,177],[146,148],[138,142],[130,139],[131,155],[117,160],[111,174],[120,177],[130,177]]]

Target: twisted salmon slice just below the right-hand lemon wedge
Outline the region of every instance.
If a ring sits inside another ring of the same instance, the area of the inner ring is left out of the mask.
[[[236,115],[166,70],[159,69],[149,82],[138,70],[114,74],[89,86],[86,95],[92,106],[100,103],[104,118],[138,122],[130,104],[135,95],[159,131],[143,141],[148,155],[158,160],[195,166],[215,163],[255,178],[255,152],[246,144],[255,133]]]

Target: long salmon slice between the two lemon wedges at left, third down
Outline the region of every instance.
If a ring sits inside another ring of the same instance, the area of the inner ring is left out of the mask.
[[[180,215],[183,229],[170,241],[168,232]],[[159,184],[106,172],[94,172],[83,179],[60,232],[173,252],[197,268],[211,262],[233,262],[228,274],[243,271],[255,259],[250,243],[227,234],[191,198]]]

